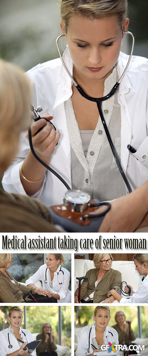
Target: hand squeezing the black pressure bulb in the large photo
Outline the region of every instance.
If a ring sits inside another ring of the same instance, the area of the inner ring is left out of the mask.
[[[45,113],[42,115],[45,117],[40,119],[31,126],[32,143],[34,150],[39,153],[40,156],[49,157],[53,154],[54,148],[59,141],[60,132],[54,129],[54,126],[50,123],[53,116]],[[38,130],[41,129],[39,132]],[[26,134],[28,138],[28,133]]]

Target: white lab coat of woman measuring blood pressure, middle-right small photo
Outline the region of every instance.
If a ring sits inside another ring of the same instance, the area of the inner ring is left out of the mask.
[[[148,303],[148,275],[144,278],[139,289],[130,298],[121,298],[120,303]]]

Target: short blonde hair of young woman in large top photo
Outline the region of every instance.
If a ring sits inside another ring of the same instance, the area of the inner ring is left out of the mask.
[[[92,20],[116,15],[122,29],[127,12],[127,0],[62,0],[60,7],[65,31],[73,15],[83,15]]]

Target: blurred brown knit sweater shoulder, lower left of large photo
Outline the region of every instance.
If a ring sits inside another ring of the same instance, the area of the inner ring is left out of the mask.
[[[38,199],[0,189],[1,232],[58,232],[50,213]]]

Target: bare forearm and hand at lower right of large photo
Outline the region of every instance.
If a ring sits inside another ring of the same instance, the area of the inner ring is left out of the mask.
[[[147,192],[148,180],[134,192],[112,201],[111,209],[105,215],[98,232],[133,232],[147,226]],[[102,210],[97,209],[94,213],[101,213]]]

